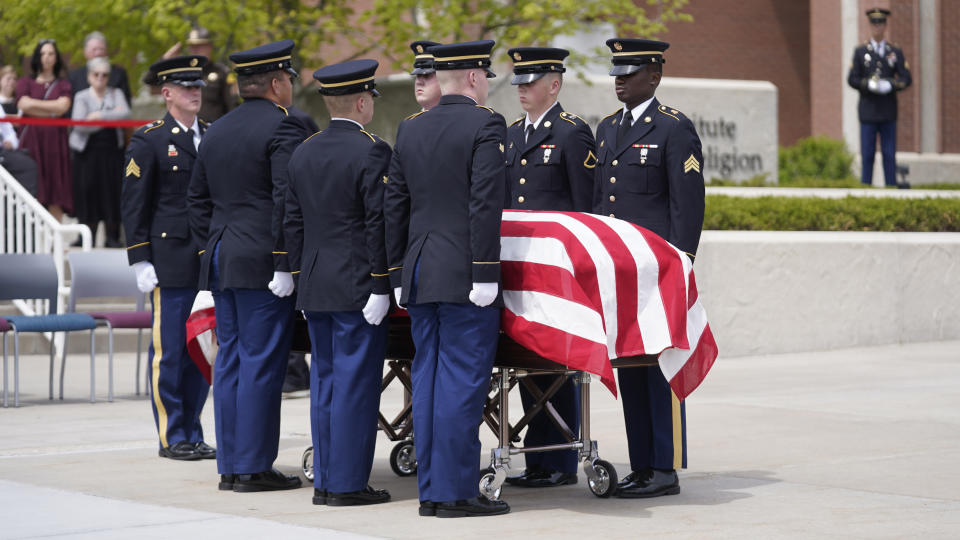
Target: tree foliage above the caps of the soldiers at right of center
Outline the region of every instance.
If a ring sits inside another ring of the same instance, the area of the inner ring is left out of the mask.
[[[417,39],[457,42],[493,39],[500,46],[545,46],[612,24],[623,37],[655,38],[667,23],[692,21],[681,9],[689,0],[374,0],[361,16],[379,36],[395,67],[409,62],[407,44]],[[505,52],[505,51],[502,51]],[[605,54],[598,47],[598,54]],[[571,51],[568,63],[588,55]]]

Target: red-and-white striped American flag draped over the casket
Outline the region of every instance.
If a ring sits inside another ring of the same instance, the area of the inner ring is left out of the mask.
[[[598,375],[614,394],[617,358],[659,354],[681,400],[703,381],[717,345],[682,251],[642,227],[579,212],[506,210],[500,232],[501,329],[512,340]],[[188,350],[208,375],[215,322],[201,298]]]

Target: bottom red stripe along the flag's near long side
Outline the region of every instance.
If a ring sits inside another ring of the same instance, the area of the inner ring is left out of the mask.
[[[613,368],[610,367],[604,344],[528,321],[508,309],[503,310],[500,328],[514,341],[544,358],[572,369],[599,375],[604,386],[614,396],[617,395]]]

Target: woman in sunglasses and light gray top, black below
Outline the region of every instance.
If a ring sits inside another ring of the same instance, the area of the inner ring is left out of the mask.
[[[130,106],[119,88],[107,85],[110,61],[102,56],[87,62],[90,87],[76,93],[74,120],[119,120],[130,117]],[[70,148],[76,152],[73,182],[74,210],[94,238],[103,220],[107,247],[120,244],[120,177],[123,172],[123,130],[75,126]]]

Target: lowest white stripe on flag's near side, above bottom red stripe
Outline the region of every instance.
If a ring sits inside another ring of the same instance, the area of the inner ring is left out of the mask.
[[[603,345],[600,314],[587,306],[533,291],[503,291],[506,308],[524,319]]]

